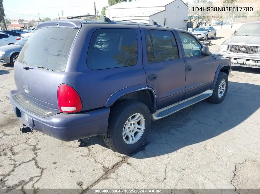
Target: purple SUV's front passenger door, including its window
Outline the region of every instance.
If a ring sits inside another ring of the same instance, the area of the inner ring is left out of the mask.
[[[179,32],[183,45],[186,67],[185,99],[202,93],[212,85],[216,72],[216,61],[202,54],[202,45],[189,33]]]

